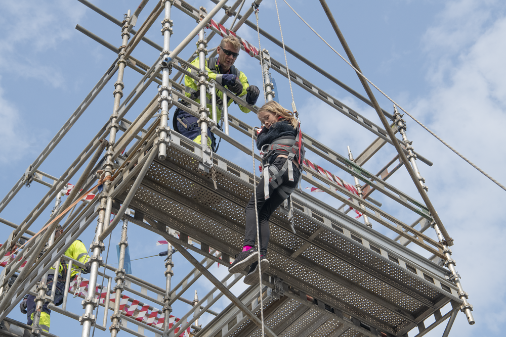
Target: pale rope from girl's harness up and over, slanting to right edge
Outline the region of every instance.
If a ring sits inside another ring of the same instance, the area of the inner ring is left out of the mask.
[[[276,0],[275,0],[276,1]],[[286,2],[286,0],[283,0],[285,2],[286,5],[288,5],[288,3]],[[458,153],[458,151],[456,151],[455,149],[453,149],[447,142],[445,142],[443,139],[441,139],[437,134],[435,134],[434,132],[432,132],[429,128],[427,128],[424,124],[422,124],[421,122],[419,122],[416,118],[414,118],[410,113],[408,113],[406,110],[404,110],[404,108],[402,108],[399,104],[397,104],[394,100],[392,100],[385,92],[383,92],[381,89],[379,89],[374,83],[372,83],[367,77],[365,77],[360,71],[358,71],[348,60],[346,60],[341,54],[339,54],[335,49],[332,48],[332,46],[330,44],[327,43],[327,41],[325,41],[323,39],[323,37],[320,36],[320,34],[318,34],[290,5],[288,5],[288,7],[293,11],[293,13],[295,13],[302,21],[304,21],[304,23],[316,34],[318,35],[318,37],[323,41],[325,42],[325,44],[332,50],[334,51],[335,54],[337,54],[340,58],[342,58],[346,63],[348,63],[348,65],[350,67],[353,68],[353,70],[355,70],[355,72],[360,76],[362,77],[363,79],[365,79],[367,82],[369,82],[369,84],[371,84],[376,90],[378,90],[379,92],[381,92],[390,102],[392,102],[394,105],[396,105],[399,109],[401,109],[406,115],[408,115],[409,117],[411,117],[411,119],[413,119],[416,123],[418,123],[418,125],[420,125],[421,127],[423,127],[425,130],[427,130],[430,134],[432,134],[434,137],[436,137],[439,141],[441,141],[448,149],[450,149],[451,151],[453,151],[457,156],[459,156],[460,158],[462,158],[463,160],[465,160],[468,164],[470,164],[471,166],[473,166],[475,169],[477,169],[480,173],[482,173],[484,176],[486,176],[487,178],[489,178],[490,180],[492,180],[494,183],[496,183],[499,187],[501,187],[502,189],[506,190],[506,187],[504,187],[501,183],[499,183],[497,180],[495,180],[493,177],[491,177],[489,174],[487,174],[485,171],[483,171],[481,168],[479,168],[478,166],[476,166],[473,162],[471,162],[469,159],[467,159],[466,157],[464,157],[463,155],[461,155],[460,153]],[[276,4],[276,11],[277,11],[278,7],[277,7],[277,4]],[[279,14],[278,14],[278,20],[279,20]],[[281,28],[281,26],[280,26]],[[281,35],[281,39],[283,38],[283,35]],[[284,44],[283,44],[283,50],[284,50]],[[286,59],[286,55],[285,55],[285,59]],[[286,70],[288,71],[288,65],[286,66]],[[288,75],[288,80],[290,79],[290,76]],[[290,90],[291,90],[291,84],[290,84]],[[292,94],[292,99],[293,99],[293,94]]]

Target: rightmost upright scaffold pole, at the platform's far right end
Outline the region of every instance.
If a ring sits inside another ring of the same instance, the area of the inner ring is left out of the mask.
[[[402,135],[402,140],[406,143],[406,150],[408,150],[407,158],[409,159],[409,162],[411,163],[411,166],[413,167],[413,170],[416,173],[416,176],[418,177],[418,180],[420,181],[420,185],[427,190],[428,187],[425,185],[425,179],[421,177],[420,171],[418,170],[418,166],[416,165],[416,155],[414,154],[414,149],[411,146],[412,141],[409,141],[406,134],[406,122],[402,119],[402,115],[397,110],[397,107],[394,105],[394,118],[395,123],[397,124],[397,128]],[[466,293],[463,288],[462,284],[460,283],[460,275],[457,273],[455,269],[455,260],[451,258],[451,249],[448,248],[448,246],[445,244],[446,241],[444,239],[443,234],[441,233],[441,230],[439,229],[439,226],[436,222],[431,222],[431,227],[434,228],[436,231],[436,235],[438,236],[439,241],[443,245],[443,252],[446,256],[446,260],[444,261],[444,264],[446,268],[448,268],[451,272],[451,276],[449,277],[450,281],[455,283],[455,285],[458,288],[458,297],[462,300],[462,305],[460,306],[460,311],[466,314],[466,317],[468,318],[469,324],[474,324],[475,320],[473,317],[473,314],[471,311],[473,311],[473,306],[468,302],[468,293]]]

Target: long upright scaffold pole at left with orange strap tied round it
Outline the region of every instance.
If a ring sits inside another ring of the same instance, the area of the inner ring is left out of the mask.
[[[128,40],[130,38],[130,33],[128,30],[128,27],[130,26],[129,24],[130,13],[131,12],[129,10],[128,13],[124,16],[123,26],[121,29],[122,43],[118,53],[119,56],[118,79],[116,83],[114,83],[114,92],[113,92],[114,107],[112,110],[112,115],[110,117],[111,123],[109,124],[109,144],[107,146],[106,161],[104,165],[104,172],[105,172],[104,179],[107,179],[107,177],[111,177],[114,169],[113,147],[116,141],[116,132],[119,128],[119,125],[117,123],[118,117],[117,110],[119,108],[120,100],[123,97],[123,88],[124,88],[123,74],[124,69],[126,67],[126,60],[124,59],[124,56],[126,45],[128,44]],[[100,206],[97,220],[98,224],[96,235],[90,247],[92,249],[93,254],[89,260],[89,262],[91,262],[90,282],[88,283],[88,288],[90,289],[90,291],[88,292],[86,299],[82,301],[82,306],[85,309],[85,313],[79,317],[79,322],[81,322],[82,324],[81,337],[89,337],[91,327],[93,324],[95,324],[95,315],[93,314],[93,312],[95,310],[95,307],[98,305],[98,299],[95,298],[95,288],[97,286],[98,269],[103,264],[102,257],[100,256],[100,254],[105,249],[104,243],[102,242],[102,240],[100,240],[99,237],[105,229],[104,226],[109,224],[112,211],[112,198],[107,196],[107,189],[109,187],[109,184],[110,181],[104,182],[104,190],[102,191],[100,196]]]

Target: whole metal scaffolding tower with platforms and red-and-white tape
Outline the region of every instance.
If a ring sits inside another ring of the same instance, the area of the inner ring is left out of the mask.
[[[292,56],[304,61],[359,100],[375,107],[384,122],[383,125],[376,125],[288,69],[282,62],[276,61],[267,50],[257,49],[255,43],[240,36],[237,37],[241,40],[241,49],[251,57],[262,59],[261,71],[267,100],[275,97],[270,71],[284,77],[289,74],[294,85],[299,85],[377,138],[354,157],[350,147],[346,156],[343,156],[304,133],[304,145],[310,153],[308,158],[315,158],[326,166],[324,168],[305,160],[304,181],[342,203],[342,206],[331,207],[311,193],[296,190],[292,195],[293,205],[285,203],[271,217],[270,267],[262,275],[262,285],[252,285],[239,296],[234,295],[230,289],[243,275],[227,274],[220,280],[209,272],[209,268],[216,263],[228,265],[233,261],[231,257],[242,247],[244,208],[253,184],[258,183],[260,178],[255,172],[213,153],[206,139],[207,132],[212,131],[237,151],[260,160],[244,145],[254,136],[254,128],[226,109],[227,100],[233,100],[255,113],[258,107],[248,105],[227,88],[209,79],[203,60],[209,54],[207,43],[216,34],[236,35],[237,29],[244,24],[257,30],[257,25],[250,22],[248,17],[262,0],[256,0],[254,6],[247,10],[243,7],[244,0],[235,1],[231,7],[226,6],[227,0],[213,0],[216,6],[210,11],[203,7],[196,9],[182,0],[161,0],[137,31],[133,28],[148,4],[147,0],[143,0],[134,13],[129,10],[122,21],[86,0],[78,1],[121,27],[121,46],[118,49],[86,28],[76,27],[117,53],[117,58],[0,203],[1,212],[21,187],[31,182],[50,188],[19,225],[1,219],[14,230],[0,247],[4,267],[0,274],[0,321],[3,321],[0,335],[22,336],[23,333],[31,333],[53,336],[37,325],[37,315],[33,327],[7,317],[25,294],[37,296],[38,306],[49,301],[49,308],[54,312],[78,320],[82,325],[83,337],[89,337],[95,328],[105,331],[108,318],[111,320],[109,330],[113,337],[121,330],[139,337],[153,334],[258,336],[262,334],[262,327],[269,336],[407,337],[409,332],[410,337],[418,337],[444,322],[446,328],[443,336],[447,336],[459,311],[465,313],[470,324],[474,324],[472,306],[467,301],[468,294],[463,291],[449,249],[452,240],[427,195],[424,195],[427,186],[417,162],[431,162],[414,151],[402,115],[397,109],[390,114],[379,108],[373,96],[371,99],[372,93],[369,99],[363,97],[286,46],[286,51]],[[174,10],[178,12],[176,15],[183,13],[195,19],[196,25],[171,50],[171,17]],[[245,11],[243,15],[240,15],[241,10]],[[225,13],[223,19],[219,22],[213,20],[222,11]],[[162,17],[163,46],[146,37],[159,17]],[[233,23],[227,29],[224,24],[229,18],[233,18]],[[334,28],[337,27],[335,21],[332,24]],[[206,36],[205,29],[212,33]],[[267,31],[259,29],[259,32],[262,38],[281,45]],[[180,57],[195,36],[198,36],[196,55],[202,61],[199,68],[189,63],[195,54],[189,59]],[[141,41],[160,53],[151,66],[132,56]],[[129,68],[143,77],[123,98],[123,89],[128,87],[125,78]],[[179,81],[182,76],[198,81],[200,97],[205,97],[211,88],[212,111],[207,109],[204,100],[196,103],[186,97],[185,87]],[[114,104],[109,119],[60,178],[41,172],[41,163],[113,77],[116,79]],[[141,95],[145,92],[153,94],[153,83],[158,85],[154,97],[139,114],[131,112],[130,115],[135,115],[132,122],[127,120],[125,115],[133,110]],[[217,119],[215,88],[224,93],[223,128],[219,127],[220,121]],[[200,144],[169,127],[170,111],[175,107],[199,118],[202,134]],[[155,114],[158,118],[153,121]],[[390,118],[391,122],[387,122],[385,117]],[[234,129],[239,136],[234,138],[230,129]],[[401,139],[396,138],[397,132]],[[366,170],[363,165],[387,143],[394,145],[398,154],[391,160],[380,160],[386,164],[378,173]],[[387,181],[402,166],[412,173],[411,177],[424,202],[417,201]],[[353,183],[329,171],[336,169],[352,176]],[[82,173],[69,191],[68,184],[76,179],[79,170]],[[51,182],[43,180],[44,177]],[[97,179],[100,179],[99,185],[103,186],[98,192]],[[89,190],[93,195],[87,197],[87,194],[79,194],[79,190]],[[63,202],[65,193],[62,191],[69,191]],[[387,200],[390,208],[402,208],[409,214],[416,214],[417,219],[407,224],[391,215],[385,211],[385,207],[382,208],[382,202],[372,198],[373,192],[381,196],[376,199]],[[87,200],[81,201],[84,197]],[[52,203],[55,208],[45,224],[47,228],[37,235],[35,231],[39,230],[34,229],[33,224]],[[68,208],[72,210],[63,221],[61,216]],[[359,217],[348,214],[351,210]],[[115,214],[113,219],[111,213]],[[79,261],[62,256],[62,252],[85,230],[93,230],[90,225],[95,220],[96,234],[89,251],[89,279],[82,278],[79,273],[77,279],[73,280],[69,273],[64,302],[61,307],[55,306],[56,283],[53,285],[53,296],[45,295],[47,274],[52,266],[58,267],[61,260],[68,263],[69,269],[72,266],[85,267]],[[55,228],[60,222],[64,232],[55,239]],[[114,268],[107,264],[107,257],[103,261],[103,252],[109,248],[105,245],[107,236],[120,222],[119,265]],[[126,273],[124,260],[128,226],[131,224],[164,238],[162,244],[167,247],[164,287]],[[27,244],[23,245],[26,240]],[[49,245],[45,249],[46,243]],[[416,248],[410,249],[413,245]],[[21,248],[17,248],[19,246]],[[176,251],[194,268],[173,286],[173,254]],[[198,261],[194,257],[196,254],[203,259]],[[193,294],[191,287],[201,276],[214,288],[204,296],[199,297],[195,291],[192,300],[184,298],[185,293]],[[141,290],[137,290],[137,287]],[[154,295],[148,295],[148,291]],[[82,298],[83,312],[80,314],[67,310],[69,294]],[[213,305],[223,296],[231,304],[220,312],[213,310]],[[173,316],[172,306],[176,301],[190,306],[188,312],[180,317]],[[104,308],[102,317],[98,316],[97,307]],[[442,312],[443,308],[446,312]],[[261,310],[264,313],[263,321],[259,318]],[[207,321],[203,326],[199,325],[202,316]]]

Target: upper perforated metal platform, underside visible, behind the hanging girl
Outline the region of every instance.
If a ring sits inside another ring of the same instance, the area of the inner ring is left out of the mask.
[[[199,169],[201,160],[199,146],[171,135],[167,159],[151,164],[130,207],[139,221],[145,217],[156,220],[158,230],[178,230],[183,246],[190,236],[201,243],[203,255],[212,247],[229,262],[242,247],[253,176],[215,155],[215,190],[211,175]],[[131,184],[124,183],[114,190],[116,202],[129,191]],[[269,327],[297,316],[302,304],[307,310],[290,325],[294,331],[316,324],[308,335],[402,336],[431,315],[441,317],[439,309],[450,301],[461,302],[455,285],[445,279],[447,269],[312,196],[297,191],[293,201],[296,234],[281,208],[271,217],[270,267],[263,283],[285,303],[276,305],[280,309],[266,320]],[[298,335],[288,331],[283,335]]]

